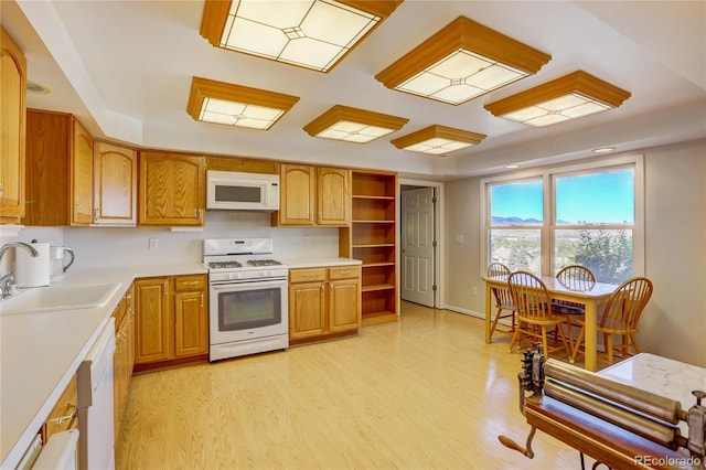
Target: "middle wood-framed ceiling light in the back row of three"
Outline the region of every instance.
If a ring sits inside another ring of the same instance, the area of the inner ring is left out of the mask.
[[[409,119],[335,105],[303,129],[311,137],[367,143],[402,129],[407,121]]]

